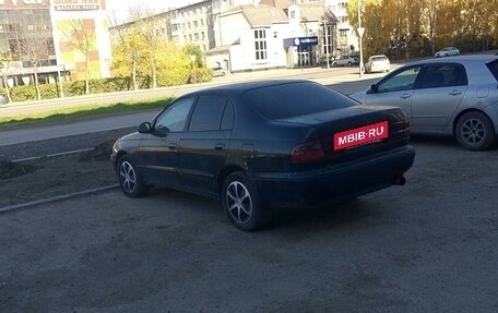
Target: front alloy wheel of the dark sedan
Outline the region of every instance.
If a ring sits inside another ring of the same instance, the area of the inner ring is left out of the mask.
[[[129,155],[119,158],[117,173],[119,186],[127,196],[141,197],[147,194],[149,186],[143,182],[135,164]]]

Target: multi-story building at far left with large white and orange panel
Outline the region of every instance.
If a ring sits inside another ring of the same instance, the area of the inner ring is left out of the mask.
[[[84,79],[87,64],[92,79],[108,77],[105,0],[0,0],[0,53],[9,86],[33,84],[35,73],[40,83]]]

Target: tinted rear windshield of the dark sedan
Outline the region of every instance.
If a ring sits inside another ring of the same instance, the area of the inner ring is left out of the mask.
[[[273,120],[358,105],[352,98],[312,82],[272,85],[245,94],[263,116]]]

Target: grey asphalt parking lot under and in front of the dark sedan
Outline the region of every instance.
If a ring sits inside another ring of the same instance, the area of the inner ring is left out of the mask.
[[[498,148],[415,137],[393,186],[235,229],[119,191],[0,215],[0,312],[498,312]]]

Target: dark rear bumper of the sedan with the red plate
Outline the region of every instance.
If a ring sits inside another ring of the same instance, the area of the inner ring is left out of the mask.
[[[272,207],[316,207],[400,184],[412,167],[415,149],[405,146],[321,170],[260,173],[251,177]]]

